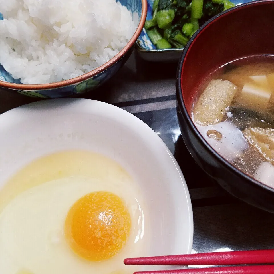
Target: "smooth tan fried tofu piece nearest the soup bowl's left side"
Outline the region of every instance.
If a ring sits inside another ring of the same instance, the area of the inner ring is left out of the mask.
[[[229,81],[211,80],[195,104],[194,122],[201,126],[221,122],[236,92],[237,86]]]

